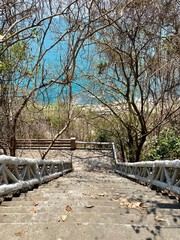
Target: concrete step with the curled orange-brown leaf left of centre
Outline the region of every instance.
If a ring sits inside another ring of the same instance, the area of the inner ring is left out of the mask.
[[[69,205],[72,208],[73,212],[95,212],[95,213],[117,213],[117,214],[151,214],[154,217],[158,216],[161,218],[164,218],[163,216],[172,216],[172,215],[177,215],[180,218],[180,209],[176,208],[176,205],[174,208],[157,208],[157,207],[147,207],[147,208],[127,208],[124,206],[120,206],[118,204],[94,204],[94,205],[88,205],[85,203],[79,203],[78,201],[76,202],[71,202],[71,204],[67,204],[67,202],[60,203],[60,204],[48,204],[43,203],[43,202],[35,202],[35,205],[38,204],[37,206],[34,206],[34,202],[30,202],[30,205],[24,205],[20,206],[19,205],[12,205],[12,206],[7,206],[7,205],[1,205],[0,206],[0,213],[1,214],[6,214],[6,213],[31,213],[34,210],[36,211],[51,211],[51,212],[56,212],[57,210],[61,210],[66,212],[66,207]],[[178,207],[178,205],[177,205]],[[179,219],[178,218],[178,219]],[[179,220],[177,221],[179,222]]]

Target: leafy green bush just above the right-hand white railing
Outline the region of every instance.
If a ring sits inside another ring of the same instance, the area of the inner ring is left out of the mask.
[[[180,157],[180,137],[173,129],[165,128],[159,135],[150,140],[149,151],[144,160],[177,159]]]

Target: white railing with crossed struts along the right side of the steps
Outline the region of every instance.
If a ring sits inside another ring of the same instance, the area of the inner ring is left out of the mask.
[[[180,196],[180,160],[116,163],[116,172]]]

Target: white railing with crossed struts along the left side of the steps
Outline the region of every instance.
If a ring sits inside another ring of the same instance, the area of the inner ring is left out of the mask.
[[[57,178],[72,171],[72,162],[0,156],[0,196]]]

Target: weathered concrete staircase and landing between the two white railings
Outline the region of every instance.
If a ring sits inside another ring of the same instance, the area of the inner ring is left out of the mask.
[[[180,239],[175,200],[115,175],[109,156],[73,161],[74,172],[0,205],[0,239]]]

